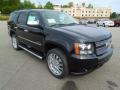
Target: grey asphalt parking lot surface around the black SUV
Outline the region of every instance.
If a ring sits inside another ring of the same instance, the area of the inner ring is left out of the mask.
[[[102,27],[99,27],[102,28]],[[54,78],[46,63],[11,46],[6,22],[0,22],[1,90],[120,90],[120,27],[107,28],[113,35],[114,54],[109,62],[85,76]]]

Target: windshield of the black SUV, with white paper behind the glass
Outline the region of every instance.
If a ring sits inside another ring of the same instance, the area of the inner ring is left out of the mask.
[[[62,12],[45,11],[42,13],[42,16],[45,24],[50,27],[78,24],[74,18]]]

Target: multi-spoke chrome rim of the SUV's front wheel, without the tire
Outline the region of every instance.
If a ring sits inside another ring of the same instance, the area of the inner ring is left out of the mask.
[[[55,75],[61,75],[63,73],[63,61],[55,53],[48,55],[48,67]]]

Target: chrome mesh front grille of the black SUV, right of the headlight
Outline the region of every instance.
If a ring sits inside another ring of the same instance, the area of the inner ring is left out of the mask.
[[[106,53],[109,45],[111,44],[111,38],[96,42],[96,54],[101,55]]]

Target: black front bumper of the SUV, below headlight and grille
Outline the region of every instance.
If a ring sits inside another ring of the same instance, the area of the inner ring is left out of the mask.
[[[72,74],[85,74],[96,68],[99,68],[106,63],[113,54],[113,49],[110,48],[108,51],[100,56],[96,55],[71,55],[70,59],[70,72]]]

